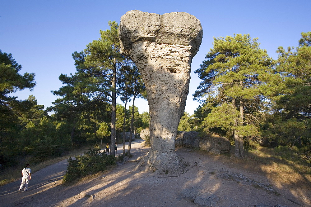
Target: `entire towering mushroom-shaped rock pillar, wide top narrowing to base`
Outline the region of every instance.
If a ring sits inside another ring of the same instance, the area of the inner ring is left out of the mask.
[[[121,17],[121,52],[137,65],[149,104],[151,149],[140,162],[141,170],[174,175],[186,169],[174,152],[175,138],[202,35],[200,21],[185,12],[132,10]]]

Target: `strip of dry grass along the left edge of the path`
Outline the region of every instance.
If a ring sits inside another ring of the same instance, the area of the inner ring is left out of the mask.
[[[79,148],[79,149],[73,149],[70,152],[66,153],[66,155],[61,156],[61,157],[55,157],[49,160],[46,160],[44,162],[41,162],[39,164],[32,164],[31,165],[31,171],[32,172],[36,172],[38,170],[41,170],[43,168],[45,168],[46,166],[52,165],[54,163],[57,163],[59,161],[68,159],[70,156],[74,157],[76,155],[80,155],[83,154],[85,151],[87,151],[89,149],[89,147],[83,147],[83,148]],[[14,166],[8,169],[5,169],[3,172],[0,172],[0,186],[5,185],[7,183],[11,183],[19,178],[21,178],[21,170],[24,168],[25,166]]]

